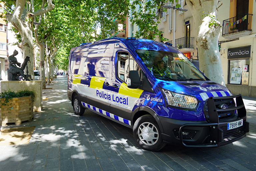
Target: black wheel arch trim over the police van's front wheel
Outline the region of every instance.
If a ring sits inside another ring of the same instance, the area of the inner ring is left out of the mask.
[[[163,129],[163,126],[162,126],[162,123],[159,119],[159,117],[157,116],[157,114],[152,110],[150,109],[149,107],[145,107],[145,106],[142,106],[142,107],[138,107],[136,108],[133,113],[132,113],[132,117],[131,117],[131,125],[133,126],[134,123],[136,122],[136,120],[143,116],[143,115],[147,115],[147,114],[150,114],[154,117],[154,119],[156,120],[158,126],[159,126],[159,129],[162,133],[164,133],[164,129]]]

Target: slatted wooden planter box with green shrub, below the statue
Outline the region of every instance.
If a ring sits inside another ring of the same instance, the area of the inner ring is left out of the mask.
[[[0,94],[0,126],[6,123],[14,122],[18,125],[22,121],[32,121],[35,94],[29,90],[4,90]]]

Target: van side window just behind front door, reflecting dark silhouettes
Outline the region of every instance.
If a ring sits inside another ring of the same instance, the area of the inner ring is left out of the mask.
[[[87,75],[109,78],[110,49],[89,51],[86,62]]]

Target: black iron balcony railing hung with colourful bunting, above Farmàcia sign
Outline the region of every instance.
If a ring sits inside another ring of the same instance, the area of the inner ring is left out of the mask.
[[[223,20],[222,35],[243,30],[252,30],[252,14],[242,14]]]

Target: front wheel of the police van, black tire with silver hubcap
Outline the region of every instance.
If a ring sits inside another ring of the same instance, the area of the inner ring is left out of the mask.
[[[144,150],[158,151],[165,146],[159,126],[152,115],[143,115],[136,120],[133,136]]]

